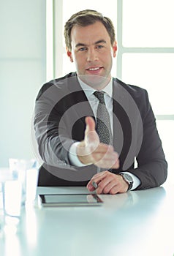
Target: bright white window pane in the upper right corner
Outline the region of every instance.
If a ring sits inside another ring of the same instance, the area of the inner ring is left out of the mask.
[[[173,0],[123,0],[125,47],[173,47]]]

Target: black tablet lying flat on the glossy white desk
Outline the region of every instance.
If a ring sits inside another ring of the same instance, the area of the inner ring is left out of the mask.
[[[39,195],[42,206],[101,206],[103,201],[96,194]]]

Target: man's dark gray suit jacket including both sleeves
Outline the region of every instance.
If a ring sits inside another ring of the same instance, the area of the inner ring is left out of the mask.
[[[76,73],[45,83],[36,99],[34,128],[43,165],[39,186],[85,186],[97,167],[74,167],[69,148],[84,138],[85,117],[94,116]],[[120,167],[141,184],[137,189],[158,187],[167,178],[167,162],[145,89],[113,78],[113,146]],[[135,159],[137,167],[134,167]]]

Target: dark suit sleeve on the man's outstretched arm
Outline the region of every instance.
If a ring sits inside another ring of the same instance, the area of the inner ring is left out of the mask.
[[[56,95],[56,96],[55,96]],[[58,95],[58,96],[57,96]],[[34,113],[34,129],[39,155],[48,165],[71,167],[68,151],[74,140],[67,134],[62,108],[60,90],[56,86],[45,84],[39,91]]]

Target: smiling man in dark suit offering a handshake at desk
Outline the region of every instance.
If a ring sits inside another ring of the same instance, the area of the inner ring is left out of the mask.
[[[98,194],[160,186],[167,162],[148,94],[111,76],[113,23],[84,10],[67,21],[64,36],[77,72],[45,83],[37,96],[39,186],[87,185]]]

